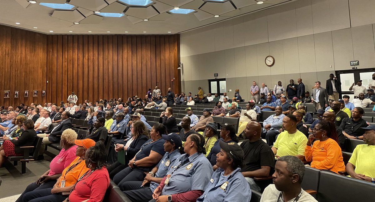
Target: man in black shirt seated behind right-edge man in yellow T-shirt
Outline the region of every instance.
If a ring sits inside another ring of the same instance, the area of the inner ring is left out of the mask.
[[[369,123],[362,119],[363,109],[361,107],[354,107],[352,118],[345,118],[342,120],[340,128],[343,130],[345,137],[350,139],[363,139],[365,128]]]

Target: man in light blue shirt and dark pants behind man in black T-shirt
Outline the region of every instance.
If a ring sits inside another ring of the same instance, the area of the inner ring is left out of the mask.
[[[280,133],[279,129],[282,127],[282,120],[284,118],[281,107],[275,108],[275,115],[269,116],[263,121],[262,139],[267,140],[269,146],[273,145],[276,140],[276,136]],[[305,148],[304,148],[305,149]],[[305,150],[303,150],[305,152]]]

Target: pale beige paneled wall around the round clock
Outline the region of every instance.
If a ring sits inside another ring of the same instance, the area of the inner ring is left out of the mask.
[[[181,34],[184,92],[226,78],[227,90],[249,99],[252,81],[273,87],[302,78],[325,86],[335,70],[375,67],[375,0],[299,0]],[[275,65],[264,63],[275,57]],[[229,93],[231,95],[232,93]]]

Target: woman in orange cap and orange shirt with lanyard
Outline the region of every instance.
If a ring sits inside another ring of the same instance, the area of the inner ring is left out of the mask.
[[[99,141],[101,142],[101,141]],[[61,193],[71,191],[74,184],[90,169],[86,167],[85,154],[87,149],[95,145],[94,140],[74,140],[77,149],[75,155],[77,156],[69,166],[65,167],[60,178],[57,179],[53,187],[39,188],[24,194],[22,200],[24,202],[39,202],[39,201],[55,201],[62,202],[68,196],[62,196]]]

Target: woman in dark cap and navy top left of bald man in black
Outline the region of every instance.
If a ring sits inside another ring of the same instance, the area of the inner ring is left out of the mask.
[[[213,166],[213,169],[216,170],[216,154],[220,152],[220,145],[219,142],[223,141],[225,143],[233,142],[238,143],[238,137],[236,136],[236,129],[234,129],[234,126],[231,124],[225,125],[220,124],[221,130],[220,130],[220,138],[214,143],[213,147],[211,148],[210,153],[207,155],[207,159],[210,161],[211,165]]]

